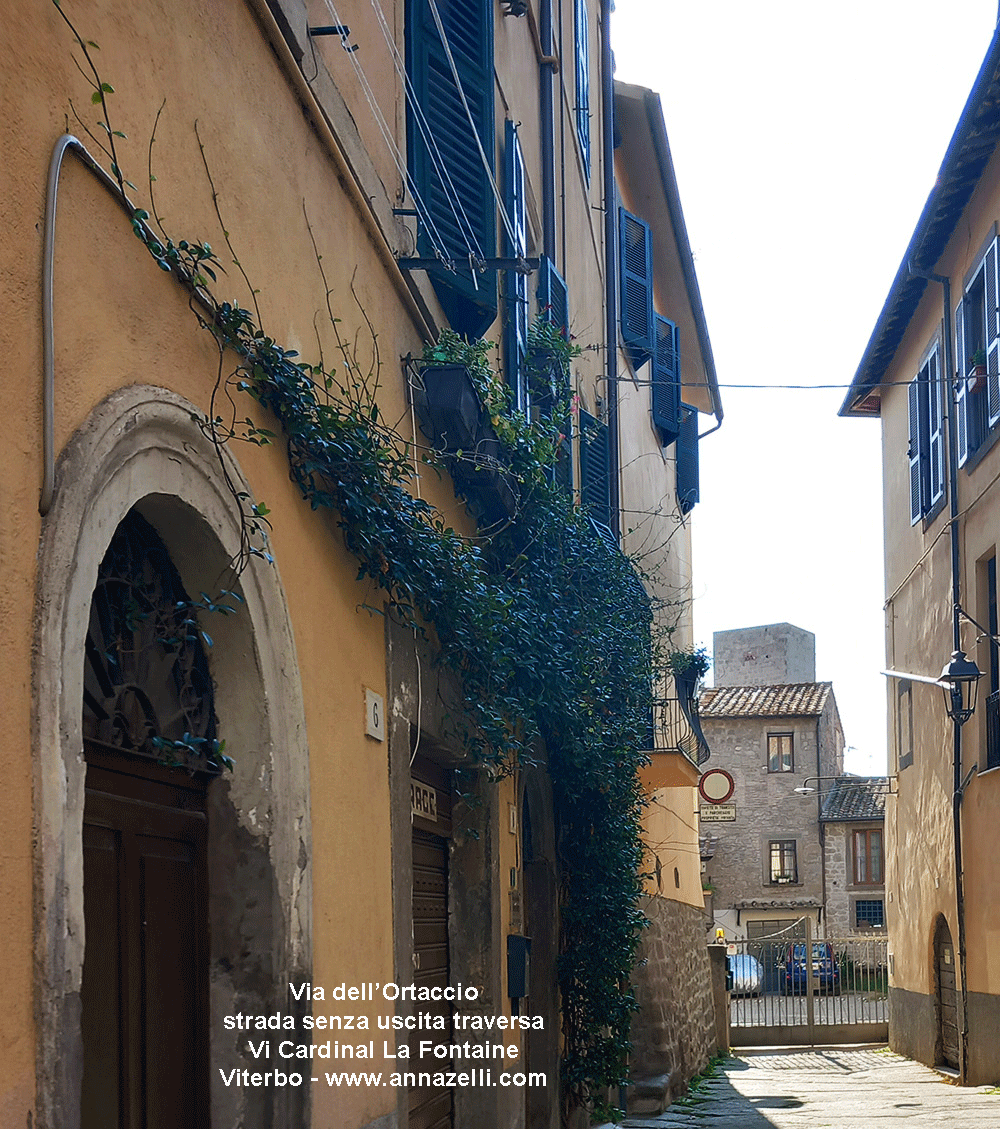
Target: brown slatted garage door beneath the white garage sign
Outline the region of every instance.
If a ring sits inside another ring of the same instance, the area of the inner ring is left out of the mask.
[[[448,840],[413,830],[413,983],[418,988],[448,986]],[[451,1005],[447,1000],[414,1005],[421,1013],[445,1018],[444,1031],[420,1033],[437,1043],[450,1043]],[[412,1045],[412,1044],[411,1044]],[[416,1049],[415,1047],[413,1048]],[[409,1069],[447,1071],[455,1059],[413,1058]],[[410,1087],[410,1129],[450,1129],[451,1091],[442,1086]]]

